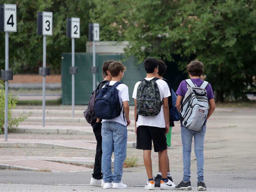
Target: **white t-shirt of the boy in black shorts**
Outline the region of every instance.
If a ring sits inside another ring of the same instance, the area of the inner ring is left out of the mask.
[[[145,79],[151,80],[151,79],[153,79],[153,77],[145,78]],[[171,96],[171,92],[168,87],[168,84],[164,80],[159,79],[159,80],[156,80],[155,82],[158,85],[161,100],[163,100],[163,98]],[[138,81],[134,86],[134,90],[133,90],[133,94],[132,94],[132,97],[134,99],[137,99],[137,89],[138,89],[138,86],[140,83],[141,83],[141,81]],[[163,116],[163,105],[161,107],[161,111],[159,112],[159,114],[157,116],[141,116],[141,115],[139,115],[138,121],[137,121],[137,127],[140,125],[152,126],[152,127],[162,127],[162,128],[165,127],[165,121],[164,121],[164,116]]]

